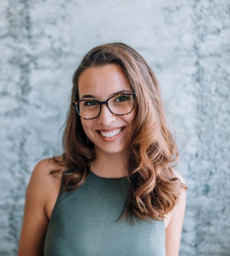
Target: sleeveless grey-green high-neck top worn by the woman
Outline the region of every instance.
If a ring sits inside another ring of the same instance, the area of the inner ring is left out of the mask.
[[[165,256],[163,221],[117,222],[128,180],[89,173],[82,186],[60,190],[44,244],[44,256]]]

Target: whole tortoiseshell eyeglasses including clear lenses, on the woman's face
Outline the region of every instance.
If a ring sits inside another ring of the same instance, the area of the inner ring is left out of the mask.
[[[117,116],[128,115],[134,109],[135,93],[114,95],[106,101],[96,99],[81,99],[73,102],[74,108],[82,119],[95,119],[100,115],[102,105],[106,104],[111,113]]]

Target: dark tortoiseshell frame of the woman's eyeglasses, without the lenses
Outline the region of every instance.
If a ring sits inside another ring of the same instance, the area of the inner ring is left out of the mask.
[[[98,102],[98,104],[100,105],[100,111],[99,111],[98,115],[95,116],[94,118],[82,118],[82,119],[85,119],[85,120],[92,120],[92,119],[98,118],[98,116],[100,115],[100,112],[102,111],[102,105],[103,105],[103,104],[105,104],[105,105],[107,106],[107,108],[109,109],[109,111],[110,111],[111,113],[113,113],[114,115],[116,115],[116,116],[125,116],[125,115],[128,115],[129,113],[131,113],[131,112],[134,110],[135,104],[133,104],[132,109],[131,109],[130,112],[124,113],[124,114],[116,114],[116,113],[114,113],[113,111],[111,111],[111,109],[109,108],[109,105],[108,105],[108,101],[109,101],[111,98],[118,97],[118,96],[122,96],[122,95],[133,95],[133,97],[134,97],[134,103],[135,103],[136,93],[121,93],[121,94],[116,94],[116,95],[113,95],[113,96],[107,98],[106,101],[98,101],[98,99],[77,99],[76,101],[74,101],[74,102],[72,103],[72,105],[74,106],[74,108],[76,108],[78,115],[82,118],[82,116],[81,116],[80,113],[78,112],[78,108],[77,108],[78,103],[79,103],[79,102],[82,102],[82,101],[96,101],[96,102]]]

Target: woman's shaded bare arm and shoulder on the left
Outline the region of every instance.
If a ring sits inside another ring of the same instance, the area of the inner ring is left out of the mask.
[[[18,256],[42,256],[49,215],[56,202],[59,186],[53,182],[49,159],[35,166],[27,187]]]

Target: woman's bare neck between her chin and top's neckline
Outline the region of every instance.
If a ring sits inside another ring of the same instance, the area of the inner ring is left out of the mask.
[[[97,154],[91,162],[91,171],[107,178],[120,178],[128,175],[126,154]]]

